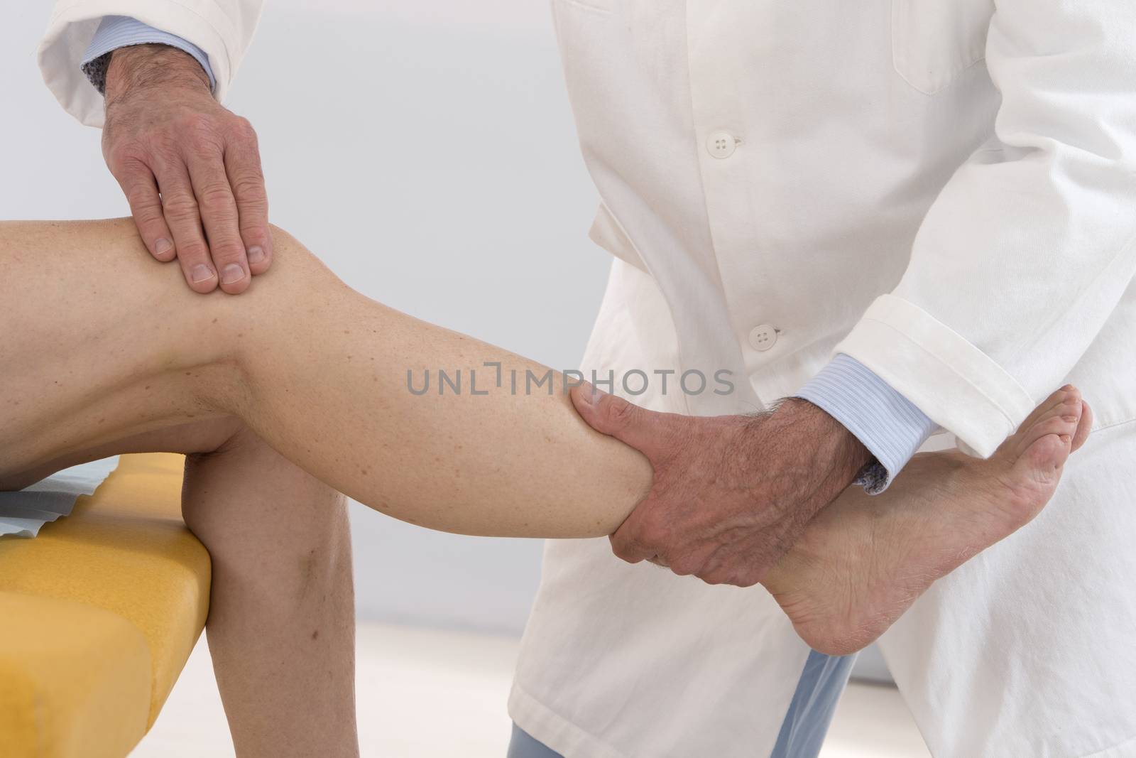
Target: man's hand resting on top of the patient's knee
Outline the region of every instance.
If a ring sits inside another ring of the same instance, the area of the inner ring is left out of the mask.
[[[164,44],[115,50],[106,116],[102,155],[154,258],[177,258],[197,292],[237,294],[268,270],[257,135],[214,99],[192,56]]]

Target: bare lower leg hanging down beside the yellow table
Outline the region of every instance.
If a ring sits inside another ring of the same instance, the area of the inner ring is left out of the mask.
[[[186,459],[182,497],[212,559],[206,628],[236,755],[358,756],[343,495],[242,427]]]

